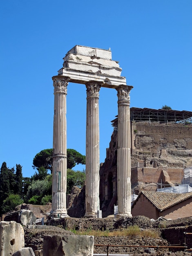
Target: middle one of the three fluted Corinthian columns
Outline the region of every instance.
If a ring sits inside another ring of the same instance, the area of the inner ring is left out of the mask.
[[[86,212],[85,217],[97,217],[99,210],[99,90],[97,82],[86,83]]]

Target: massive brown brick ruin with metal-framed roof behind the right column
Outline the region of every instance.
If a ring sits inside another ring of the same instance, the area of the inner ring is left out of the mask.
[[[100,167],[103,217],[113,214],[118,200],[118,118],[112,121],[114,132]],[[157,183],[181,184],[183,169],[192,166],[192,112],[131,108],[130,121],[132,194],[156,191]]]

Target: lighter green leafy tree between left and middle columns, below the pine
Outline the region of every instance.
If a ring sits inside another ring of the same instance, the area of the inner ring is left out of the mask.
[[[67,194],[71,193],[73,186],[82,188],[85,185],[85,172],[67,169]]]

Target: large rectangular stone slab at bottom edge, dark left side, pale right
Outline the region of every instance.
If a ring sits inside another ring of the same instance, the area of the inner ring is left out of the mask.
[[[47,235],[43,239],[43,255],[93,256],[94,236]]]

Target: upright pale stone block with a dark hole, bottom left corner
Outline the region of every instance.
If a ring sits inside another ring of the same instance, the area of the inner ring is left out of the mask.
[[[15,221],[0,222],[0,256],[12,255],[25,246],[24,230]]]

